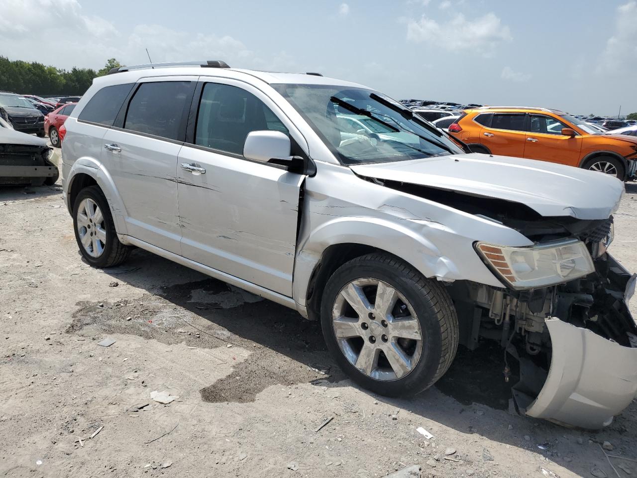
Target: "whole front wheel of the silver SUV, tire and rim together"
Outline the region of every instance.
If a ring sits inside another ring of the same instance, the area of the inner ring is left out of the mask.
[[[334,272],[322,297],[321,326],[345,373],[385,396],[431,387],[458,346],[447,291],[389,254],[357,257]]]

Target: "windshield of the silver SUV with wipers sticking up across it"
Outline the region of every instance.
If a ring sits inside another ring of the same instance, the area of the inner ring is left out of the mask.
[[[272,86],[343,164],[391,163],[463,152],[446,134],[422,120],[409,119],[410,110],[374,91],[331,85]]]

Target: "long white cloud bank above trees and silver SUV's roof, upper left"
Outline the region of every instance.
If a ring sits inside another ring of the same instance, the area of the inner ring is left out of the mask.
[[[122,64],[220,59],[231,66],[296,70],[286,52],[255,54],[240,40],[210,33],[176,31],[162,25],[139,24],[119,31],[101,17],[86,15],[78,0],[1,0],[0,45],[10,59],[39,61],[69,69],[99,69],[109,58]],[[25,22],[28,18],[28,22]],[[60,34],[63,25],[64,34]],[[20,34],[29,32],[28,35]],[[55,38],[54,54],[47,38]]]

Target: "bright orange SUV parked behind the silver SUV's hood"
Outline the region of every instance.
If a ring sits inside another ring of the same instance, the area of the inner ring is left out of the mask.
[[[637,138],[598,134],[558,110],[506,106],[465,110],[449,126],[449,133],[476,153],[568,164],[624,181],[632,179],[637,169]]]

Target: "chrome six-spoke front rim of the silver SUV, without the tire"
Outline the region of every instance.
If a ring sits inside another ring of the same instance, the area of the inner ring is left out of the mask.
[[[332,324],[341,352],[372,379],[401,379],[419,362],[420,322],[412,305],[387,282],[349,282],[336,296]]]

